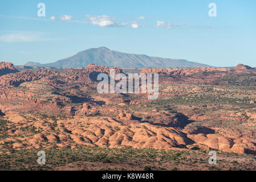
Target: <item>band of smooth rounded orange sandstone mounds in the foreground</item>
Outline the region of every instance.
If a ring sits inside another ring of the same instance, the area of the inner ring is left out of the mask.
[[[100,146],[110,148],[159,148],[173,150],[220,150],[239,154],[256,154],[256,146],[247,139],[233,140],[217,134],[186,134],[173,127],[159,127],[150,123],[129,122],[124,124],[106,117],[81,117],[53,121],[36,119],[29,122],[19,115],[6,115],[11,123],[22,127],[34,128],[34,131],[23,131],[18,128],[7,130],[13,137],[0,141],[2,148],[76,148],[80,146]],[[17,121],[19,121],[17,123]],[[9,123],[10,125],[10,123]],[[36,133],[35,133],[36,131]],[[60,132],[56,132],[60,131]],[[32,133],[34,132],[34,133]],[[23,137],[15,137],[19,135]],[[3,135],[3,133],[0,133]],[[10,142],[11,141],[11,142]]]

